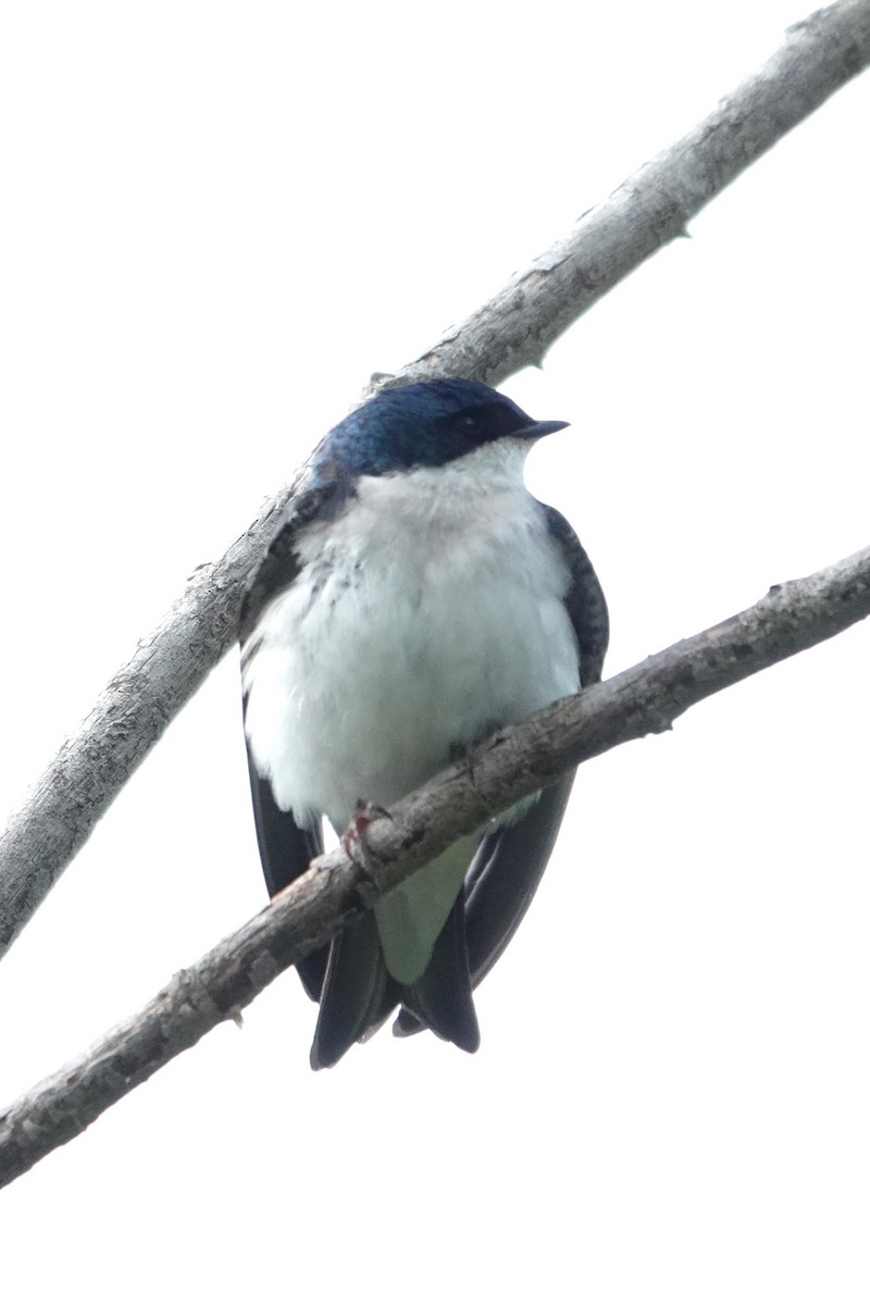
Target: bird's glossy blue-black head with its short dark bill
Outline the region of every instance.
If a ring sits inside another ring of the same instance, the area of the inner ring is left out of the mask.
[[[381,390],[334,427],[312,463],[312,483],[438,467],[484,444],[537,440],[567,422],[535,422],[480,381],[417,381]]]

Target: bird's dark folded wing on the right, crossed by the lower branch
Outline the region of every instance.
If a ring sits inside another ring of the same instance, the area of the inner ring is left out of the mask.
[[[580,685],[601,679],[608,646],[607,602],[599,578],[570,525],[554,508],[544,508],[547,525],[571,573],[566,607],[577,633]],[[505,829],[481,839],[466,878],[464,930],[471,981],[476,988],[513,938],[530,907],[558,834],[574,771],[545,788],[535,805]],[[423,1022],[403,1006],[397,1036],[420,1032]]]

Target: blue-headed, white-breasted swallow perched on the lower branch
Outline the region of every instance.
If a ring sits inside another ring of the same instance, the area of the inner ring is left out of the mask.
[[[500,726],[600,679],[601,587],[523,480],[566,422],[476,381],[382,390],[317,449],[241,615],[245,736],[271,895],[357,803],[389,809]],[[459,839],[299,966],[320,1002],[312,1067],[399,1006],[464,1051],[472,988],[522,920],[573,775]]]

